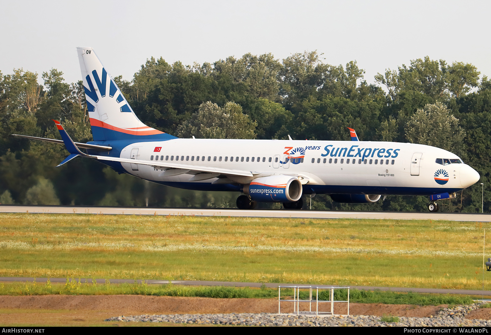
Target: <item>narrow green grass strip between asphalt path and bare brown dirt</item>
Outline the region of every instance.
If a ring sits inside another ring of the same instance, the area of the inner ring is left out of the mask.
[[[347,300],[348,291],[338,289],[334,291],[334,300]],[[146,285],[142,284],[110,284],[103,285],[82,283],[80,280],[68,280],[65,284],[47,283],[10,283],[0,284],[0,295],[111,295],[111,294],[137,294],[154,296],[175,297],[207,297],[207,298],[277,298],[276,288],[250,288],[250,287],[189,287],[178,285]],[[315,293],[314,293],[315,294]],[[293,296],[292,289],[282,289],[282,299]],[[300,299],[308,299],[308,290],[300,290]],[[319,291],[319,300],[330,300],[328,290]],[[407,305],[465,305],[472,304],[470,296],[459,296],[449,294],[421,294],[421,293],[398,293],[391,291],[365,291],[350,290],[350,302],[353,303],[379,303],[379,304],[407,304]],[[392,321],[391,321],[392,322]]]

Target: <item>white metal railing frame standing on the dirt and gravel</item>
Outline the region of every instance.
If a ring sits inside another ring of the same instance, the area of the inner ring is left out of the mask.
[[[281,300],[281,289],[282,288],[293,288],[293,300]],[[309,299],[308,300],[300,300],[300,289],[308,289],[309,290]],[[316,290],[315,299],[312,299],[313,290]],[[319,300],[319,290],[320,289],[328,289],[329,290],[329,300]],[[335,289],[348,289],[348,300],[334,300],[334,290]],[[278,314],[281,314],[280,304],[281,302],[293,302],[293,313],[297,313],[300,315],[300,303],[309,303],[309,313],[312,313],[312,303],[315,302],[315,315],[319,314],[330,314],[334,315],[334,303],[348,303],[348,315],[350,315],[350,287],[322,287],[322,286],[278,286]],[[320,312],[319,311],[319,303],[330,303],[331,311],[330,312]],[[305,311],[306,312],[306,311]],[[305,313],[304,312],[304,313]]]

